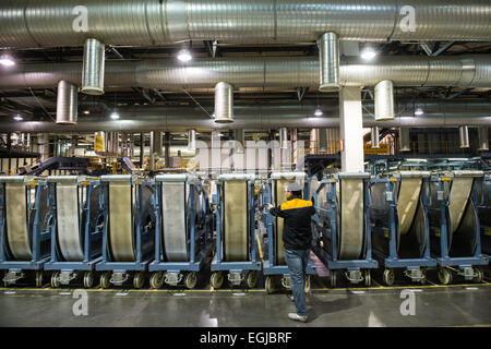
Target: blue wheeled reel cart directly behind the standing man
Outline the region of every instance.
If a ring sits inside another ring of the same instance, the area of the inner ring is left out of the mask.
[[[286,202],[285,185],[289,182],[298,182],[304,185],[303,197],[309,198],[309,181],[306,180],[306,172],[273,172],[267,183],[262,188],[262,204],[264,206],[264,218],[267,229],[267,260],[264,261],[263,274],[266,276],[265,288],[268,293],[273,293],[277,286],[282,285],[286,289],[291,289],[291,277],[286,264],[285,248],[283,244],[283,218],[273,217],[266,205],[272,203],[279,205]],[[310,275],[315,274],[312,260],[309,260],[306,273],[306,292],[310,290]],[[280,282],[278,282],[280,276]]]

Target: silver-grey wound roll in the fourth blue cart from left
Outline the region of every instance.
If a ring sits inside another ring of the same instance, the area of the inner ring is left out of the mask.
[[[167,261],[189,261],[188,190],[184,181],[161,183],[164,248]]]

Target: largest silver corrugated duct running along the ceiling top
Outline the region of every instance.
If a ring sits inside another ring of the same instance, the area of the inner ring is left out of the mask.
[[[0,46],[158,46],[185,40],[489,40],[488,0],[2,0]],[[452,22],[458,19],[458,23]]]

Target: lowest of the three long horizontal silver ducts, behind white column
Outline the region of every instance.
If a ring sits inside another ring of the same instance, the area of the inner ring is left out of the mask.
[[[363,104],[363,127],[383,128],[458,128],[459,125],[491,124],[491,103],[475,101],[428,101],[398,100],[396,118],[379,122],[373,119],[373,104]],[[115,121],[106,115],[81,116],[76,125],[57,125],[45,121],[3,121],[3,132],[51,132],[75,133],[98,130],[120,132],[180,131],[189,129],[208,131],[212,129],[274,130],[280,127],[290,129],[319,129],[339,127],[339,106],[336,101],[322,104],[325,110],[322,118],[312,117],[316,104],[283,103],[271,105],[235,106],[232,123],[219,124],[209,119],[199,107],[127,107],[119,110],[120,119]],[[416,108],[422,108],[424,115],[415,117]]]

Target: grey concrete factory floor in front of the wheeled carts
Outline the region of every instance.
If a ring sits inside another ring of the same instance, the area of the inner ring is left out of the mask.
[[[400,314],[404,289],[416,315]],[[87,291],[88,315],[75,316],[73,289],[1,289],[0,326],[491,326],[491,284],[313,290],[310,321],[291,322],[285,293],[264,290]]]

